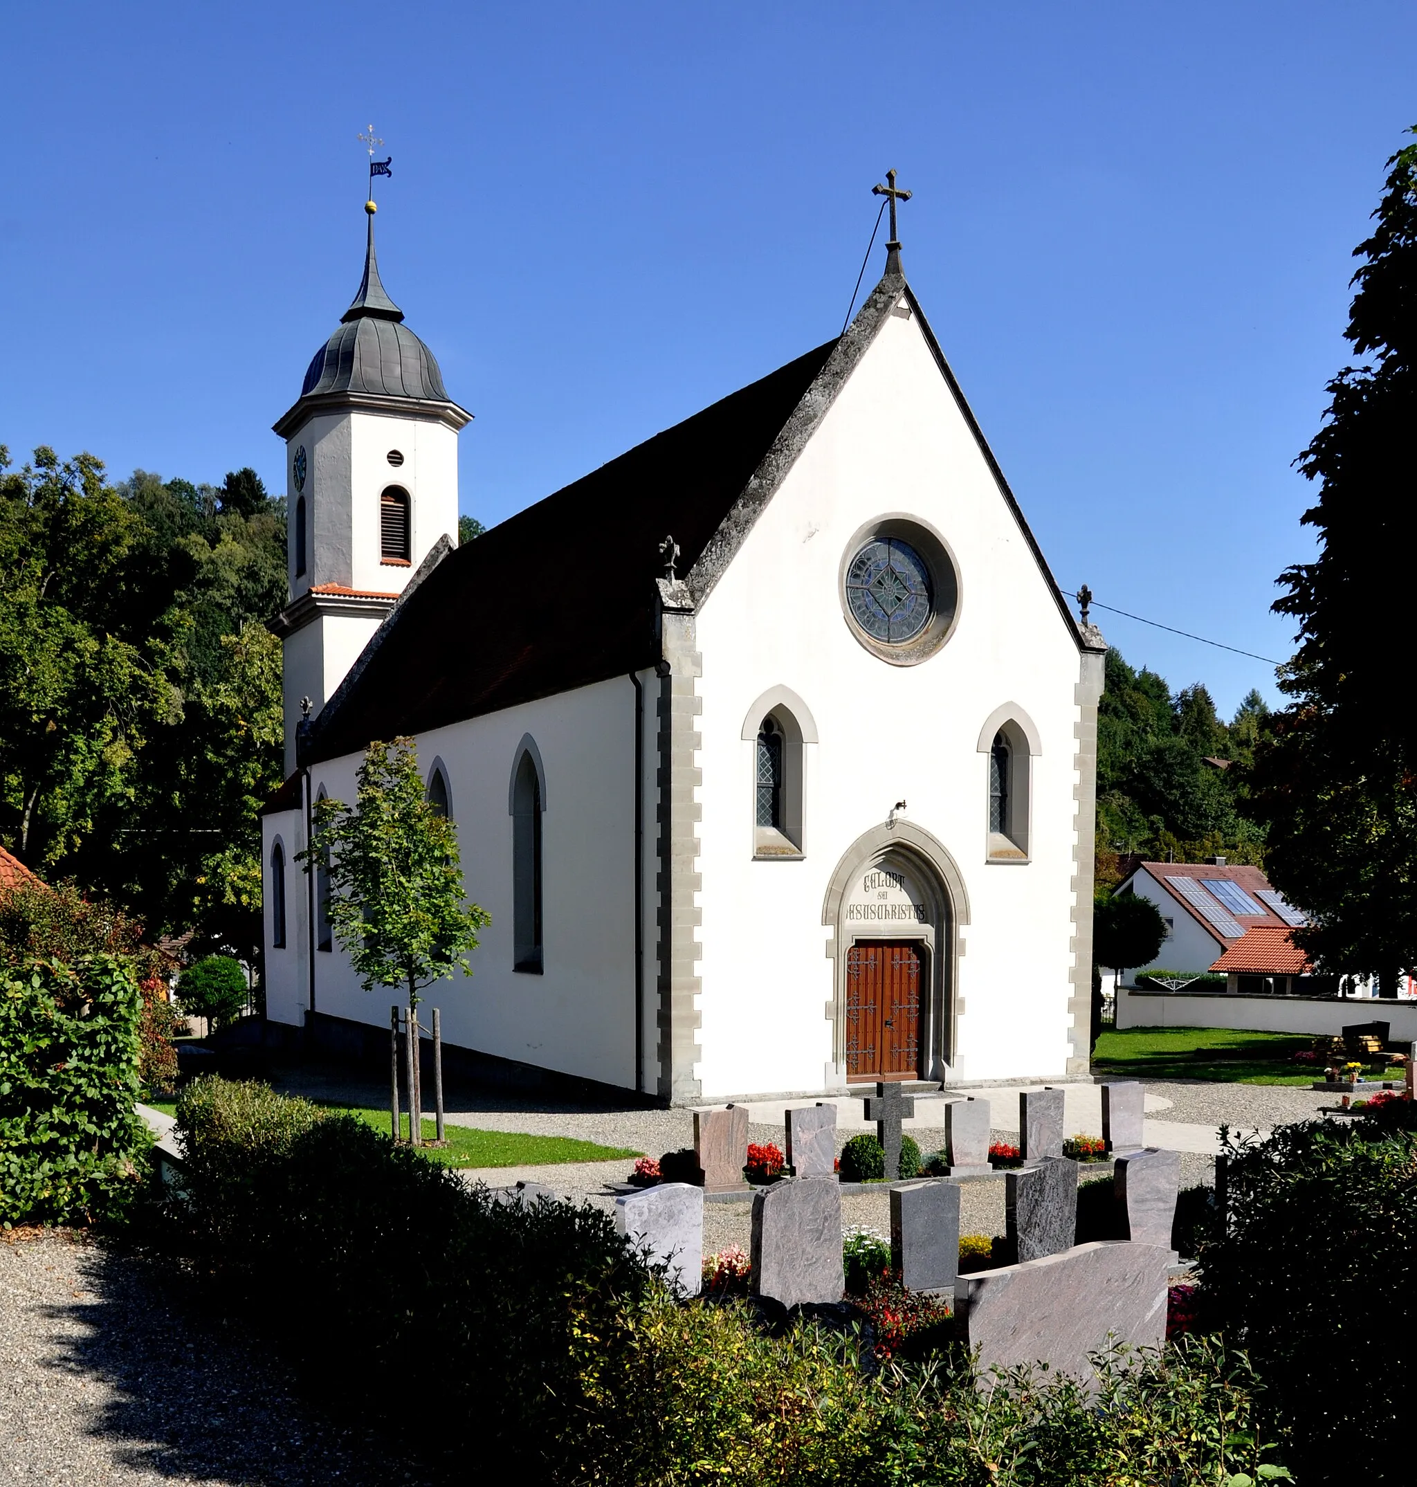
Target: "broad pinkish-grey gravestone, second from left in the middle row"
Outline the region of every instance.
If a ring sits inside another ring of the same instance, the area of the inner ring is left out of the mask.
[[[752,1294],[793,1307],[842,1300],[842,1184],[784,1178],[752,1199]]]

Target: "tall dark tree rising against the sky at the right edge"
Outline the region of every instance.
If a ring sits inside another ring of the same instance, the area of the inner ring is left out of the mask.
[[[1280,681],[1294,700],[1256,751],[1255,809],[1274,882],[1311,915],[1298,943],[1396,995],[1398,971],[1417,965],[1417,696],[1392,666],[1414,641],[1417,144],[1387,165],[1344,332],[1369,360],[1328,384],[1323,427],[1298,458],[1319,486],[1303,516],[1319,555],[1280,577],[1274,608],[1298,622]]]

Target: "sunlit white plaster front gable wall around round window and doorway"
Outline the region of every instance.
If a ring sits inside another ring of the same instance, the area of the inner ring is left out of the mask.
[[[929,660],[883,663],[839,599],[862,523],[908,515],[959,564],[953,635]],[[953,1080],[1060,1075],[1069,1056],[1075,687],[1079,653],[914,320],[889,318],[824,424],[700,607],[703,1097],[813,1090],[831,1059],[822,898],[846,849],[897,800],[964,874]],[[752,751],[769,687],[797,691],[807,748],[806,858],[751,859]],[[984,720],[1027,711],[1027,864],[986,862]],[[1090,825],[1087,827],[1090,836]],[[1088,842],[1090,849],[1090,842]]]

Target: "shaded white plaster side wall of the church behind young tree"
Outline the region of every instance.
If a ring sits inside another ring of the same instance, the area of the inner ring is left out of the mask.
[[[418,739],[424,773],[434,758],[446,769],[468,897],[492,915],[471,977],[424,992],[449,1042],[633,1087],[633,687],[616,678]],[[546,770],[541,975],[511,970],[509,788],[526,733]],[[351,800],[357,767],[357,757],[317,766],[314,793]],[[363,990],[338,947],[315,953],[318,1011],[382,1026],[397,999]]]

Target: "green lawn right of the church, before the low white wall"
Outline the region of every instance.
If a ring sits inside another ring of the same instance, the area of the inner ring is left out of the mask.
[[[1308,1033],[1129,1028],[1126,1032],[1103,1032],[1093,1054],[1093,1072],[1134,1080],[1221,1080],[1228,1084],[1292,1084],[1304,1088],[1323,1078],[1322,1065],[1294,1062],[1295,1053],[1311,1045]],[[1369,1065],[1366,1074],[1393,1078],[1386,1060]]]

